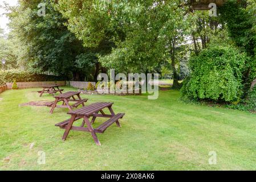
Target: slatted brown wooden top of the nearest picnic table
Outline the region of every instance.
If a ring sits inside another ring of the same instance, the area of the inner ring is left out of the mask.
[[[71,115],[82,115],[82,116],[90,116],[91,114],[94,114],[97,111],[100,111],[101,109],[104,109],[105,107],[112,106],[112,102],[96,102],[94,104],[82,107],[81,109],[70,111],[67,114]]]

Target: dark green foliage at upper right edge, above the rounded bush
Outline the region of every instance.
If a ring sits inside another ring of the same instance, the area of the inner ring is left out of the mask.
[[[256,78],[256,3],[255,1],[228,0],[220,8],[221,18],[227,24],[230,38],[251,59],[246,61],[244,73],[245,91],[249,90],[250,82]]]

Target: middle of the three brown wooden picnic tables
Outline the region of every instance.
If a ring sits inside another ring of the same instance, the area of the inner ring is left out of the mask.
[[[72,99],[71,99],[72,97]],[[78,98],[75,98],[78,97]],[[74,107],[78,107],[79,105],[84,106],[84,102],[87,102],[88,99],[82,99],[80,97],[80,92],[66,92],[63,94],[59,94],[59,96],[55,96],[55,101],[51,102],[47,106],[51,107],[50,113],[52,114],[55,107],[68,108],[70,111],[73,110]],[[58,102],[62,102],[62,105],[57,105]],[[70,102],[75,102],[75,104],[71,105]]]

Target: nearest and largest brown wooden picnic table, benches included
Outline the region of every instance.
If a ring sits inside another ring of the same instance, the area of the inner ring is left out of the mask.
[[[101,144],[99,139],[97,139],[96,133],[104,133],[104,131],[109,126],[111,126],[114,122],[118,127],[121,127],[119,123],[119,119],[123,118],[124,113],[115,114],[115,112],[112,109],[112,105],[113,105],[112,102],[96,102],[94,104],[82,107],[81,109],[70,111],[69,113],[67,113],[71,115],[71,118],[55,125],[60,127],[60,129],[65,130],[62,140],[66,140],[70,130],[86,131],[91,133],[92,138],[94,139],[97,146],[100,146]],[[103,109],[106,109],[106,108],[108,108],[111,114],[104,113]],[[90,121],[89,119],[91,117],[92,119]],[[92,127],[92,124],[94,124],[95,119],[97,117],[103,117],[103,118],[109,118],[109,119],[108,121],[104,122],[99,127],[97,127],[96,129],[94,129],[94,127]],[[79,119],[83,119],[82,125],[80,127],[72,126],[73,123],[75,121],[78,121]],[[86,125],[87,127],[84,127],[84,125]]]

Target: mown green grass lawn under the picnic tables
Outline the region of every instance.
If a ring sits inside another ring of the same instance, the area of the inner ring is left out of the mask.
[[[50,115],[48,107],[19,107],[54,100],[38,97],[35,90],[0,94],[0,170],[256,169],[255,114],[186,105],[178,101],[175,90],[160,92],[158,100],[82,95],[89,98],[87,105],[111,101],[116,113],[125,113],[121,129],[112,125],[97,134],[101,146],[96,146],[90,133],[79,131],[62,141],[64,130],[54,125],[69,117],[67,109],[57,108]],[[102,122],[96,119],[95,126]],[[45,152],[45,165],[37,163],[38,151]],[[216,165],[208,163],[210,151],[217,152]]]

